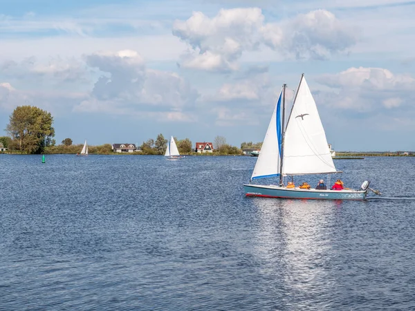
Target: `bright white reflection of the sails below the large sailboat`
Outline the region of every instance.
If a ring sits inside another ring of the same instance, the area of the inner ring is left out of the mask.
[[[254,200],[259,213],[255,255],[264,263],[262,278],[275,279],[273,286],[264,281],[264,290],[298,310],[324,299],[329,304],[339,286],[331,274],[332,237],[342,201]]]

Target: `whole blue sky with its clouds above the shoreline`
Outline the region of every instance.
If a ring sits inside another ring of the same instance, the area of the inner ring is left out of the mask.
[[[415,151],[415,1],[0,4],[2,129],[33,104],[57,142],[257,142],[305,73],[336,150]]]

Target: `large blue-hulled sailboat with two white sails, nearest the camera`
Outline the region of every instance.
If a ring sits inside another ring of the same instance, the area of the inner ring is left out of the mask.
[[[307,198],[329,200],[365,200],[369,182],[361,189],[323,190],[287,188],[284,177],[306,174],[342,173],[335,169],[326,133],[304,77],[299,81],[293,107],[285,125],[286,84],[282,87],[251,181],[279,176],[279,185],[243,185],[246,196],[267,198]],[[379,191],[372,190],[376,194]]]

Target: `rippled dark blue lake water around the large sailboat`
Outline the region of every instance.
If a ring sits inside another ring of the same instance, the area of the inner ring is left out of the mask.
[[[415,158],[335,160],[360,202],[246,198],[256,159],[0,155],[0,310],[414,310]]]

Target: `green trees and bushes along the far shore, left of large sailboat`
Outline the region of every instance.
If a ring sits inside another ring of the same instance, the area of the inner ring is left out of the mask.
[[[53,127],[53,116],[36,106],[17,106],[9,117],[6,126],[8,136],[0,137],[0,145],[8,148],[9,153],[24,154],[62,154],[79,153],[82,144],[73,144],[71,138],[65,138],[60,144],[56,143],[55,129]],[[189,138],[178,140],[174,138],[178,151],[181,154],[203,154],[203,155],[241,155],[242,149],[260,149],[261,142],[243,142],[241,148],[232,146],[226,142],[223,136],[214,138],[212,153],[196,153],[192,141]],[[158,134],[156,140],[150,138],[142,142],[135,154],[163,155],[167,149],[168,140],[163,134]],[[111,144],[99,146],[89,145],[89,153],[111,154]]]

